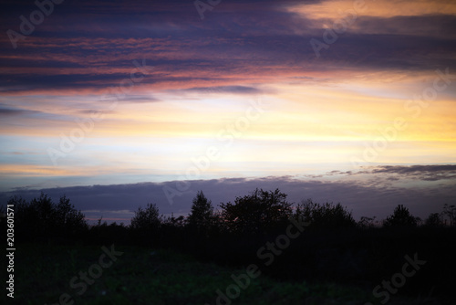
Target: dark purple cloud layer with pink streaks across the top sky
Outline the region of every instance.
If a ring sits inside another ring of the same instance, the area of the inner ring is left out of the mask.
[[[211,87],[239,93],[254,90],[239,87],[243,78],[281,73],[299,78],[308,70],[456,66],[455,16],[360,16],[316,59],[309,41],[322,40],[325,29],[285,10],[296,3],[223,1],[200,20],[192,1],[67,0],[16,49],[6,35],[0,37],[2,65],[23,68],[0,73],[2,90],[107,89],[129,77],[135,58],[147,58],[156,68],[141,84],[205,89],[203,83],[212,80]],[[18,16],[36,9],[23,4],[4,5],[2,33],[18,30]]]

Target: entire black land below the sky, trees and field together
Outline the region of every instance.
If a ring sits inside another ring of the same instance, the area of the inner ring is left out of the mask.
[[[278,190],[255,192],[221,205],[222,213],[201,192],[187,218],[148,205],[130,226],[101,219],[88,226],[65,197],[58,204],[46,195],[14,198],[14,226],[2,220],[5,231],[15,230],[15,257],[4,264],[15,279],[7,301],[456,304],[452,221],[435,214],[422,223],[399,205],[374,226],[341,205],[293,209]],[[454,219],[456,207],[448,207]]]

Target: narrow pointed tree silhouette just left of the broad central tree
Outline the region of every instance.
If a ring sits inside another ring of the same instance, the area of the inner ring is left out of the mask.
[[[198,231],[207,231],[214,223],[213,206],[202,191],[197,192],[193,198],[192,209],[187,218],[191,228]]]

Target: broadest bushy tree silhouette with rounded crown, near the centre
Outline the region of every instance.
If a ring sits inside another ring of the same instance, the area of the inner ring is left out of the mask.
[[[291,204],[279,189],[255,189],[252,195],[236,197],[234,204],[221,204],[223,224],[236,233],[264,233],[283,225],[292,214]]]

